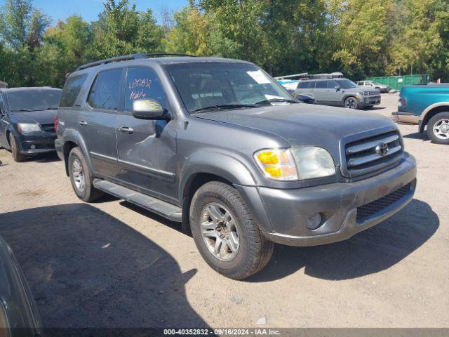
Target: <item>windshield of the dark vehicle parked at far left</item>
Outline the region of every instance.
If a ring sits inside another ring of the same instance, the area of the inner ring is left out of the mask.
[[[61,91],[58,89],[9,91],[11,111],[40,111],[58,109]]]

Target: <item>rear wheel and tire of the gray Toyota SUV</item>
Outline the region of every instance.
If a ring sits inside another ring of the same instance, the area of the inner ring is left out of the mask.
[[[68,165],[70,183],[72,183],[73,190],[79,199],[91,202],[103,195],[102,191],[93,187],[93,176],[79,147],[74,147],[70,151]]]

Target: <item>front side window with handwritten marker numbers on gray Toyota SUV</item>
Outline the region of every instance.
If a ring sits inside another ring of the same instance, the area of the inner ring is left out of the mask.
[[[166,106],[166,93],[154,70],[146,67],[130,67],[126,76],[125,110],[133,110],[135,100],[157,100]]]

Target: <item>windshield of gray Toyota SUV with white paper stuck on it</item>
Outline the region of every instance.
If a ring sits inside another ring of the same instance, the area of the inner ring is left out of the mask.
[[[267,100],[285,104],[292,100],[290,94],[255,65],[201,62],[166,68],[189,112],[220,106],[255,107]]]

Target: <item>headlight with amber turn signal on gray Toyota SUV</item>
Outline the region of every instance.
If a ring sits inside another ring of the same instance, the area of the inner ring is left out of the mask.
[[[254,159],[264,175],[273,180],[303,180],[335,174],[332,157],[321,147],[260,150]]]

